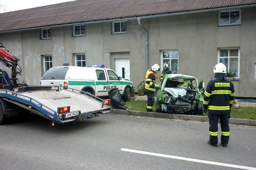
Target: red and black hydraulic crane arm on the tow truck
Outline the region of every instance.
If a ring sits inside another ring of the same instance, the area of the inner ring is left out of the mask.
[[[28,86],[25,82],[22,84],[19,82],[19,79],[16,77],[17,75],[21,75],[21,68],[18,64],[20,59],[15,55],[11,54],[9,50],[6,50],[4,45],[0,42],[0,61],[6,67],[12,67],[12,75],[11,75],[11,84],[10,85],[3,85],[0,89],[10,89],[22,86]]]

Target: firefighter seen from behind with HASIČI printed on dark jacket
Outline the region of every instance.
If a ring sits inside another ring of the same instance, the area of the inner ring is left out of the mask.
[[[213,72],[214,80],[210,80],[204,92],[204,113],[208,110],[210,140],[208,144],[217,146],[218,121],[221,127],[221,145],[227,147],[229,141],[229,125],[231,106],[234,100],[235,89],[233,83],[227,79],[226,66],[216,64]]]

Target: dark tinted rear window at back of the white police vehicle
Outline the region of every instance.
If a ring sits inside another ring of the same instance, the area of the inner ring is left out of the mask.
[[[44,74],[42,80],[64,80],[68,69],[68,67],[53,67]]]

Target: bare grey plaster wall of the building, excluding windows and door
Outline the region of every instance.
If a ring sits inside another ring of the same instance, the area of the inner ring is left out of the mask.
[[[141,19],[148,29],[148,66],[160,65],[161,50],[179,51],[179,73],[196,76],[207,84],[214,77],[218,48],[240,48],[240,79],[233,80],[236,96],[256,97],[256,8],[242,9],[241,25],[218,26],[218,12]],[[145,33],[137,20],[128,21],[128,32],[111,33],[111,23],[88,24],[85,36],[72,37],[72,26],[52,28],[52,38],[40,40],[40,30],[1,33],[1,42],[19,56],[23,77],[39,85],[42,55],[52,55],[53,66],[75,65],[74,54],[84,53],[86,64],[105,64],[115,70],[111,54],[130,54],[134,87],[145,79]],[[1,68],[3,66],[1,65]],[[157,73],[159,82],[160,73]],[[20,80],[22,80],[20,78]],[[135,90],[136,91],[136,90]]]

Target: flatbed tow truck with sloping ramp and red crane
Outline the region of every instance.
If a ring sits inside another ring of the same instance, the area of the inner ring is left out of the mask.
[[[1,42],[0,42],[1,43]],[[11,83],[0,72],[0,125],[6,118],[33,112],[56,123],[81,121],[111,111],[111,100],[102,100],[88,92],[64,86],[37,86],[20,83],[18,64],[20,59],[12,55],[1,43],[0,62],[12,68]]]

